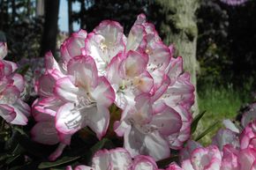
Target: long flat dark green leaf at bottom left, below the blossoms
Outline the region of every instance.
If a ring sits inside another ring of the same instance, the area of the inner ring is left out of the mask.
[[[39,169],[54,167],[54,166],[61,166],[63,164],[72,162],[73,160],[79,159],[80,157],[63,157],[61,159],[57,159],[55,162],[41,162],[38,166]]]

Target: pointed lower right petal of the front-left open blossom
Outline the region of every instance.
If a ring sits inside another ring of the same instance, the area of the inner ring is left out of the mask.
[[[104,106],[91,107],[87,108],[86,112],[87,125],[93,129],[97,137],[101,140],[109,127],[109,108]]]

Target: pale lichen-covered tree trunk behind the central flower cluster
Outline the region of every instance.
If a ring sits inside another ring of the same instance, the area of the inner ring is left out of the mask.
[[[165,41],[174,43],[176,55],[184,59],[184,70],[191,73],[192,84],[196,88],[196,45],[198,29],[195,20],[195,11],[199,7],[199,0],[156,0],[160,5],[162,19],[160,30],[167,33]],[[195,89],[195,103],[192,108],[194,114],[199,113],[197,92]]]

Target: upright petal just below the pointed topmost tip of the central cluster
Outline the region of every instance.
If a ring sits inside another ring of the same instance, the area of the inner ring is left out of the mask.
[[[145,27],[134,25],[128,35],[125,51],[144,51],[146,48],[146,32]]]

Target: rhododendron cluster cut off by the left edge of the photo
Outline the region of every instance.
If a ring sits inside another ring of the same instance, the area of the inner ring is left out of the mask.
[[[26,125],[30,107],[20,99],[24,79],[18,73],[16,63],[5,61],[7,45],[0,42],[0,116],[11,124]]]

